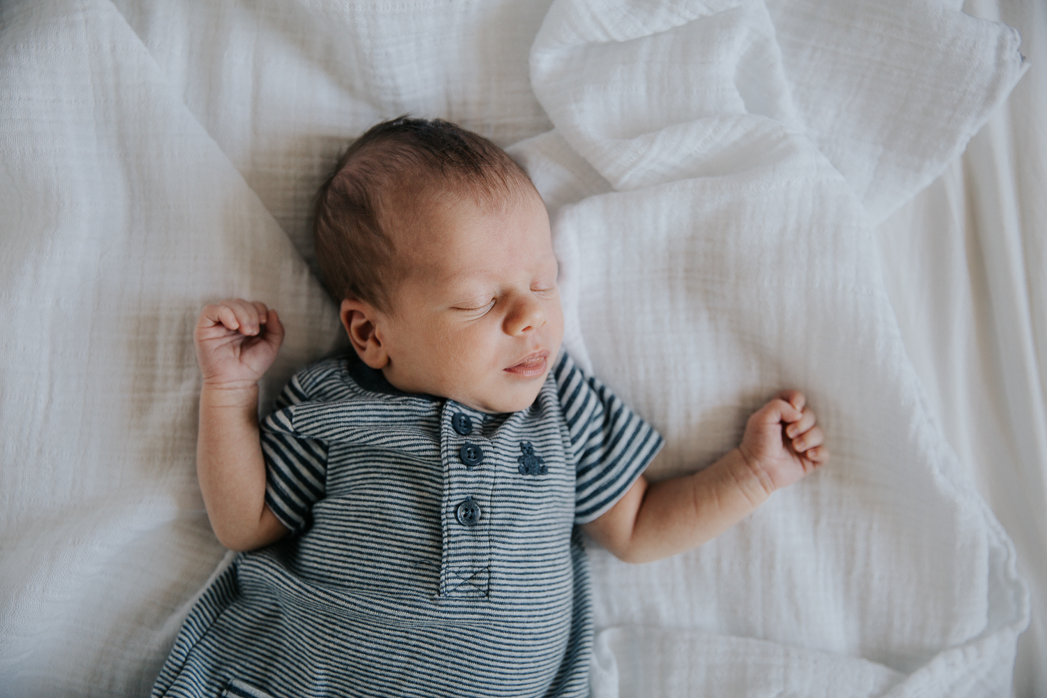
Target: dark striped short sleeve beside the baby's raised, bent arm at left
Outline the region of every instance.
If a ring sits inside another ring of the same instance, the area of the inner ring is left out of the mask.
[[[302,527],[309,510],[324,497],[327,485],[327,443],[294,430],[295,405],[306,400],[306,391],[295,376],[276,399],[275,411],[261,425],[265,502],[291,531]]]

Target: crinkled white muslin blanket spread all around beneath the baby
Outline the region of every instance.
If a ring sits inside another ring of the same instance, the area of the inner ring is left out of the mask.
[[[870,226],[1005,98],[1019,39],[843,5],[0,9],[0,694],[148,693],[222,556],[196,314],[281,311],[269,396],[332,348],[309,196],[347,137],[415,111],[515,142],[566,344],[666,436],[652,477],[783,387],[828,434],[829,466],[699,549],[592,550],[594,695],[1005,695],[1027,590],[929,416]]]

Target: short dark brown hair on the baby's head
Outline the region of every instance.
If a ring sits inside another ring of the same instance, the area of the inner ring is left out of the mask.
[[[316,261],[328,292],[391,310],[404,269],[392,224],[420,207],[469,198],[494,206],[534,193],[527,173],[487,138],[443,119],[401,116],[350,144],[320,186],[313,211]]]

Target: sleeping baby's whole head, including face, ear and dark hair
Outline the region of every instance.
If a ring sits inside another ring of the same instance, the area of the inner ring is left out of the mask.
[[[545,206],[486,138],[442,120],[375,126],[320,188],[316,257],[372,368],[486,412],[534,402],[563,338]]]

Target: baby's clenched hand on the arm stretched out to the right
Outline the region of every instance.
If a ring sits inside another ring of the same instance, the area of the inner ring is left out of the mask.
[[[799,390],[783,390],[753,413],[741,437],[745,463],[767,494],[792,485],[829,459],[825,435]]]

